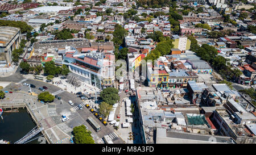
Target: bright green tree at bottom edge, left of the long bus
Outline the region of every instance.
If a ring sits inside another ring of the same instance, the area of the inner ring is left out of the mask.
[[[80,125],[73,128],[74,142],[76,144],[94,144],[94,140],[85,125]]]

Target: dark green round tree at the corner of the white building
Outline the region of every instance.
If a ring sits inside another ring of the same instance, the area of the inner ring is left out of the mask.
[[[110,105],[117,103],[120,99],[118,95],[118,90],[114,87],[108,87],[101,91],[100,97],[102,100]]]

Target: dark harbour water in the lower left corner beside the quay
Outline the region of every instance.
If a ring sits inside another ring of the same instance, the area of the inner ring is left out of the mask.
[[[33,122],[30,114],[27,113],[26,108],[19,108],[19,112],[3,112],[2,118],[0,117],[0,140],[3,139],[10,141],[11,143],[15,143],[30,132],[31,129],[36,127],[36,124]],[[42,133],[38,133],[38,135],[32,139],[41,135]],[[39,142],[38,139],[35,139],[27,144],[39,143],[41,142]]]

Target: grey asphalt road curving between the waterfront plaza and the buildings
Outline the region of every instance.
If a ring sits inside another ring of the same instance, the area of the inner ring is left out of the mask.
[[[60,87],[57,87],[55,85],[52,85],[51,83],[47,83],[47,82],[43,82],[43,81],[38,81],[38,80],[33,80],[33,79],[25,79],[19,72],[20,72],[20,68],[17,69],[16,73],[14,73],[12,76],[10,77],[2,77],[0,78],[0,81],[8,81],[8,82],[19,82],[19,83],[31,83],[34,84],[36,86],[36,88],[31,88],[31,90],[33,92],[35,92],[36,94],[42,93],[42,91],[38,90],[38,87],[43,87],[46,86],[48,87],[48,89],[46,91],[49,91],[50,93],[55,93],[56,91],[60,90]],[[8,88],[6,88],[8,89]],[[26,91],[28,92],[29,87],[28,86],[23,86],[21,85],[19,87],[19,89],[21,91]],[[59,91],[60,92],[60,91]],[[82,100],[80,98],[77,98],[77,95],[75,94],[71,94],[68,93],[67,91],[63,91],[60,94],[57,94],[59,97],[61,97],[61,100],[63,100],[63,102],[65,104],[68,104],[69,100],[72,100],[72,102],[75,104],[73,107],[77,106],[78,104],[82,103]],[[55,102],[59,102],[57,100],[55,100]],[[63,103],[63,104],[64,104]],[[69,105],[69,104],[68,104]],[[72,106],[69,105],[69,107],[71,108]],[[81,118],[83,119],[82,124],[86,124],[86,126],[89,128],[90,131],[92,131],[94,133],[94,135],[97,135],[98,137],[102,138],[104,135],[107,135],[109,133],[113,133],[114,129],[113,127],[108,124],[107,126],[103,125],[100,120],[98,120],[90,111],[88,108],[82,108],[82,110],[77,110],[77,113],[81,116]],[[94,129],[86,122],[86,119],[88,117],[92,117],[94,118],[98,124],[101,125],[101,131],[100,132],[96,132],[94,131]],[[115,144],[123,144],[123,141],[121,139],[115,139],[113,141]]]

